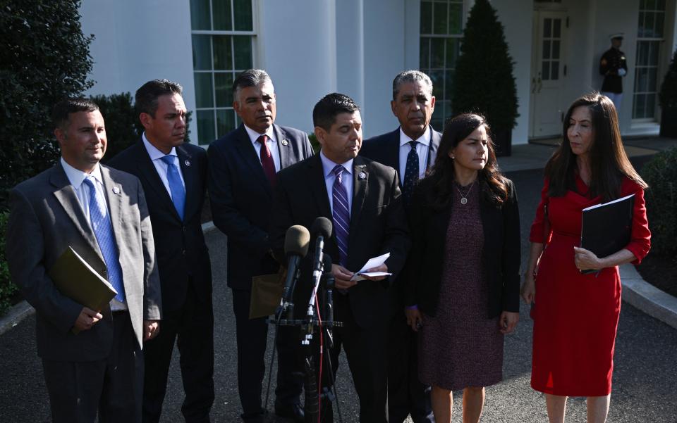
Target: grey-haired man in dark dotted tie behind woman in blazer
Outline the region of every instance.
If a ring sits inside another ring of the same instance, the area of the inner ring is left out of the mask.
[[[413,187],[432,168],[442,134],[432,129],[435,110],[432,81],[419,70],[405,70],[393,80],[393,114],[400,127],[393,132],[367,139],[360,150],[365,156],[398,172],[405,209]],[[416,334],[407,325],[403,312],[404,272],[394,284],[390,322],[388,363],[388,411],[391,423],[402,423],[408,415],[414,423],[434,422],[430,387],[418,381]]]

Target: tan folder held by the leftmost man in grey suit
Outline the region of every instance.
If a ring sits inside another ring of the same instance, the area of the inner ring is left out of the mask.
[[[73,301],[101,311],[117,291],[70,246],[56,259],[49,270],[56,288]]]

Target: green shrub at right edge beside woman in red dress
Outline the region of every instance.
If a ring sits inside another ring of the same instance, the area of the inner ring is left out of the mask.
[[[652,251],[658,255],[677,253],[677,147],[661,151],[642,168],[647,189],[647,218]]]

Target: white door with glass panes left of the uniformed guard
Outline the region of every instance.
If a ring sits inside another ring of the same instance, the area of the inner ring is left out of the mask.
[[[530,137],[546,138],[562,134],[566,113],[564,82],[566,63],[566,12],[534,12],[534,44],[531,72]]]

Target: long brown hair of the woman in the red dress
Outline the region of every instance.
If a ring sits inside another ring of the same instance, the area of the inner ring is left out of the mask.
[[[575,172],[578,170],[578,163],[571,151],[567,130],[571,114],[580,106],[589,108],[592,115],[593,139],[588,152],[590,187],[587,194],[591,198],[602,196],[602,201],[605,202],[614,200],[621,196],[623,177],[628,177],[640,187],[647,188],[646,182],[635,171],[623,149],[614,103],[608,97],[592,92],[576,99],[566,112],[562,144],[545,165],[545,176],[550,180],[548,195],[561,197],[566,191],[576,190]]]

